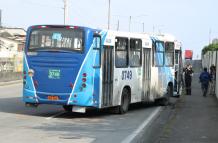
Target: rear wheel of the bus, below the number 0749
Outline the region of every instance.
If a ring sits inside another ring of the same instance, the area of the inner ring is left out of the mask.
[[[118,107],[119,114],[125,114],[129,110],[130,95],[128,89],[124,88],[121,96],[121,105]]]

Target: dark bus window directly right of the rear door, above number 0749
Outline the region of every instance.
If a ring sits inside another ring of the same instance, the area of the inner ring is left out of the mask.
[[[128,38],[116,38],[115,66],[123,68],[128,66]]]

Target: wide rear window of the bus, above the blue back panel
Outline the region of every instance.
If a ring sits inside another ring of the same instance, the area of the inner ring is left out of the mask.
[[[29,51],[68,50],[82,51],[83,30],[65,28],[33,29],[30,35]]]

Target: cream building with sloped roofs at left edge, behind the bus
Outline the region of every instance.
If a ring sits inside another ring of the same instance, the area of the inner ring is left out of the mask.
[[[25,38],[22,28],[0,28],[0,72],[22,71]]]

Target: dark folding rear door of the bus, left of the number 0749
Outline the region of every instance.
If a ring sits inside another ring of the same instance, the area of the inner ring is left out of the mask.
[[[113,97],[113,46],[104,46],[102,54],[102,105],[104,107],[112,105]]]

